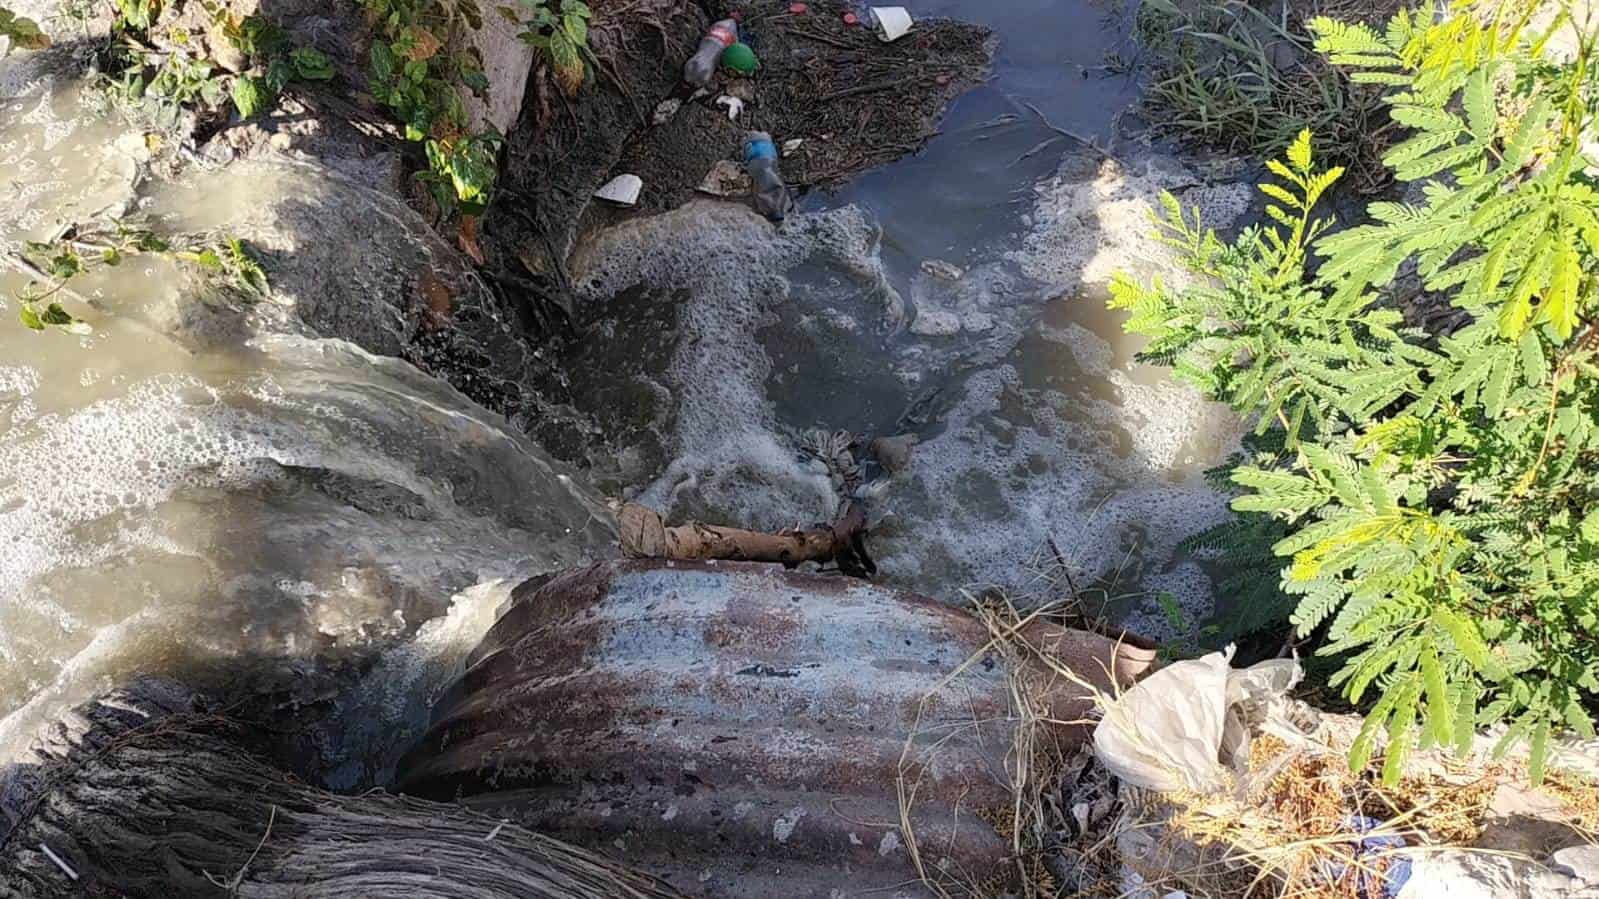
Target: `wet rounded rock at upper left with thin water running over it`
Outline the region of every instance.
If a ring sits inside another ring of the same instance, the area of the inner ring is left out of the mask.
[[[465,256],[406,203],[313,162],[238,160],[179,190],[217,197],[185,227],[237,235],[267,270],[273,302],[189,304],[169,326],[206,342],[313,331],[400,357],[480,405],[524,421],[544,363]]]

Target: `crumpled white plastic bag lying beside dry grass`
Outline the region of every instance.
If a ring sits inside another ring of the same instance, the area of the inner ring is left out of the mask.
[[[1249,761],[1249,737],[1281,715],[1303,672],[1294,659],[1233,670],[1233,646],[1174,662],[1105,709],[1094,755],[1150,790],[1217,792]]]

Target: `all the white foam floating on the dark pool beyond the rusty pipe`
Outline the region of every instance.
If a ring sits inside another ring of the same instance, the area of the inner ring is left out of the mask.
[[[1035,235],[1011,264],[1049,283],[1092,290],[1118,267],[1116,254],[1140,266],[1169,264],[1159,253],[1130,250],[1145,242],[1145,211],[1158,190],[1188,184],[1186,173],[1161,166],[1135,179],[1115,171],[1052,179],[1039,189]],[[844,309],[871,307],[860,296],[875,293],[884,294],[889,320],[897,296],[889,298],[875,240],[870,219],[854,206],[798,216],[774,232],[742,206],[704,202],[622,224],[579,253],[574,272],[590,302],[636,285],[688,293],[664,299],[681,302],[668,371],[678,397],[672,461],[641,485],[640,501],[668,518],[710,513],[756,528],[831,512],[825,477],[796,459],[776,426],[766,395],[771,360],[756,334],[774,322],[777,304],[800,302],[803,322],[831,320],[849,315]],[[801,266],[806,290],[796,291],[790,282]],[[953,283],[915,275],[913,288],[927,306],[921,312],[948,312],[959,333],[918,339],[913,330],[879,360],[883,378],[934,382],[947,378],[942,366],[961,347],[1006,358],[1028,330],[1041,331],[1039,346],[1059,349],[1047,358],[979,363],[955,382],[958,400],[934,426],[942,430],[879,494],[886,520],[871,545],[884,576],[947,600],[958,600],[963,585],[1028,593],[1041,587],[1035,563],[1054,539],[1084,582],[1115,581],[1118,590],[1145,597],[1170,590],[1201,614],[1209,584],[1174,555],[1183,537],[1226,515],[1226,499],[1198,477],[1234,442],[1226,410],[1169,379],[1135,378],[1089,328],[1035,323],[1049,288],[1030,293],[996,264],[974,266]],[[833,331],[857,341],[859,330]],[[841,352],[875,352],[857,342]],[[1087,387],[1068,395],[1046,384],[1051,365],[1070,366]],[[804,378],[803,363],[792,378]]]

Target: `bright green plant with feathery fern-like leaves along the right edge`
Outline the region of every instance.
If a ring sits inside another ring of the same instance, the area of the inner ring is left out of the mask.
[[[1262,186],[1274,226],[1222,245],[1167,202],[1162,240],[1209,283],[1113,288],[1148,358],[1281,434],[1233,470],[1233,507],[1286,529],[1292,624],[1345,659],[1330,683],[1369,704],[1350,761],[1386,731],[1386,779],[1417,745],[1500,725],[1497,750],[1525,745],[1538,781],[1553,736],[1591,737],[1599,709],[1599,194],[1581,150],[1599,56],[1569,6],[1538,32],[1535,8],[1457,3],[1383,34],[1316,19],[1318,48],[1410,130],[1383,163],[1420,200],[1332,230],[1313,208],[1338,173],[1303,133]],[[1412,267],[1469,323],[1407,328],[1386,291]]]

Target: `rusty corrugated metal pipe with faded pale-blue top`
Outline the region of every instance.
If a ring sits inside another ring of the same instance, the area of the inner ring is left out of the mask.
[[[1153,657],[1059,627],[1028,637],[1089,678]],[[747,563],[574,569],[515,592],[401,789],[620,848],[708,899],[919,897],[903,776],[929,877],[958,865],[1003,885],[1011,843],[983,814],[1012,803],[1009,678],[1047,675],[974,659],[987,645],[967,613],[859,581]],[[1087,710],[1076,688],[1041,696],[1059,721]],[[1070,747],[1083,731],[1035,736]]]

